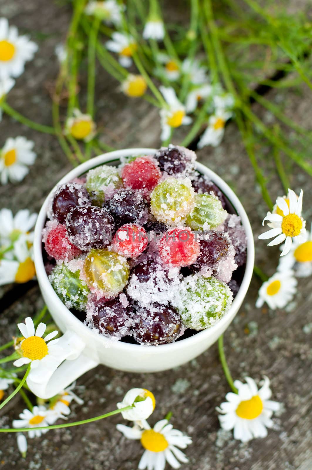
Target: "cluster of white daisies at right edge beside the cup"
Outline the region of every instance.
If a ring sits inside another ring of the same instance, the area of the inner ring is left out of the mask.
[[[273,211],[268,212],[263,220],[263,225],[267,221],[270,230],[259,235],[259,238],[273,238],[268,246],[282,245],[277,271],[262,284],[257,307],[266,302],[272,309],[284,308],[296,293],[296,277],[312,274],[312,232],[305,228],[302,200],[302,190],[297,196],[289,189],[287,196],[276,199]]]

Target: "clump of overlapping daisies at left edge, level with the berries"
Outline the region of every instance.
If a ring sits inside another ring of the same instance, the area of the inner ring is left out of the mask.
[[[24,283],[35,276],[32,243],[37,214],[28,209],[13,216],[9,209],[0,210],[0,285]]]

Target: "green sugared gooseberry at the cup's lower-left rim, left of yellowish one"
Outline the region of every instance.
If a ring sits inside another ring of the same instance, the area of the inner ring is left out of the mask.
[[[75,260],[55,266],[49,276],[53,289],[67,308],[84,310],[90,293],[86,282],[80,279]]]

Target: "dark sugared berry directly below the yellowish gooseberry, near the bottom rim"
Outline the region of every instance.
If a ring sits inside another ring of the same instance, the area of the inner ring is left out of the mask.
[[[95,328],[101,335],[121,339],[130,333],[130,325],[133,322],[128,314],[128,309],[118,298],[96,298],[89,300],[86,306],[85,324]]]

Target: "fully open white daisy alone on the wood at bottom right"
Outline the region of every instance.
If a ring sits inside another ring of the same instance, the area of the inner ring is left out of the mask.
[[[272,392],[270,380],[264,377],[262,387],[258,390],[256,382],[246,377],[247,384],[235,380],[238,393],[226,394],[227,401],[221,403],[217,411],[221,428],[230,431],[234,428],[234,439],[247,442],[253,438],[265,438],[266,428],[273,427],[271,416],[278,411],[281,404],[270,400]]]

